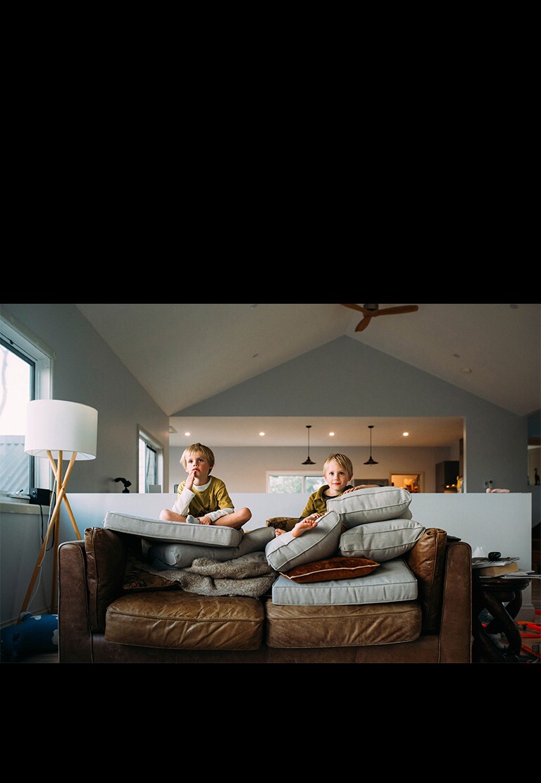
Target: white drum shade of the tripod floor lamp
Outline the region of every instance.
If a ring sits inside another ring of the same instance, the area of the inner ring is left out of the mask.
[[[98,411],[79,402],[63,399],[33,399],[27,406],[27,432],[24,451],[32,456],[55,459],[58,453],[76,460],[96,458],[98,440]]]

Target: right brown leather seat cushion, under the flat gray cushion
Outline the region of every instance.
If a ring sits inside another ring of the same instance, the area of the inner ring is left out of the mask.
[[[270,648],[365,647],[399,644],[420,637],[421,610],[417,601],[280,606],[267,598],[265,612],[265,640]]]

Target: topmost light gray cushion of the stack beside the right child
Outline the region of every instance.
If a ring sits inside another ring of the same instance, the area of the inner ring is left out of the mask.
[[[331,497],[326,502],[329,511],[340,514],[340,521],[346,528],[377,522],[381,519],[410,519],[411,495],[400,487],[367,487],[355,489],[340,497]]]

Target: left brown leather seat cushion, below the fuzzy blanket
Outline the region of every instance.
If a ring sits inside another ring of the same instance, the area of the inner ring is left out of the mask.
[[[139,647],[256,650],[263,622],[263,605],[256,598],[182,590],[128,594],[107,608],[105,638]]]

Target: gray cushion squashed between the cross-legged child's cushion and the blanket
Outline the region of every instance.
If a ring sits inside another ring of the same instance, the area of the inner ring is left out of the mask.
[[[205,525],[203,525],[205,526]],[[264,552],[265,546],[274,538],[274,528],[247,530],[238,547],[202,547],[189,543],[160,543],[150,547],[148,559],[154,568],[189,568],[197,557],[211,557],[225,562],[242,557],[243,554]]]

